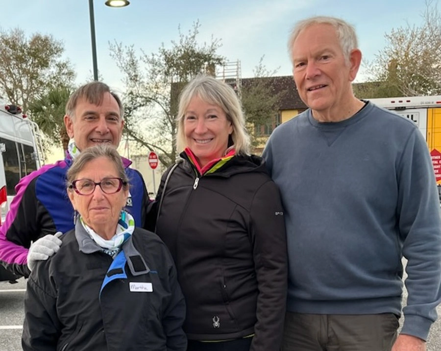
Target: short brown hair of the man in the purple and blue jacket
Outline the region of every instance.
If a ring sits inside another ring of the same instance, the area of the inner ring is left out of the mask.
[[[97,81],[84,84],[73,92],[66,103],[66,115],[68,115],[71,120],[73,119],[75,116],[76,104],[78,100],[82,98],[86,99],[90,103],[93,103],[94,105],[100,105],[105,93],[109,93],[115,98],[120,108],[120,118],[123,120],[124,107],[119,96],[114,91],[110,90],[110,87],[107,84]]]

